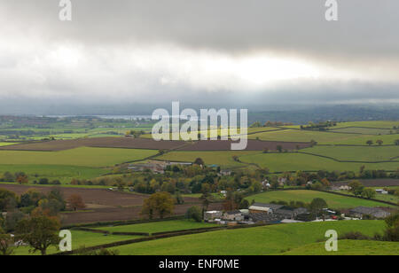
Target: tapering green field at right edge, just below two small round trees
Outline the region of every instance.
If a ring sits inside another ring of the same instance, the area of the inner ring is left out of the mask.
[[[399,146],[314,146],[301,152],[331,157],[341,161],[387,161],[399,156]],[[397,160],[399,166],[399,160]]]

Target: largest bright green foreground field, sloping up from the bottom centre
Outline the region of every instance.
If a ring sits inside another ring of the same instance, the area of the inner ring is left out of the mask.
[[[382,233],[383,221],[304,222],[239,230],[218,230],[174,238],[163,238],[116,247],[126,255],[267,255],[325,240],[325,231],[339,235],[361,231]]]

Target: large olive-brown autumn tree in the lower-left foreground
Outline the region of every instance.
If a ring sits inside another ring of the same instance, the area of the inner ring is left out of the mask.
[[[57,218],[38,215],[21,220],[16,228],[16,237],[32,248],[30,253],[40,251],[45,255],[50,246],[59,246],[60,226]]]

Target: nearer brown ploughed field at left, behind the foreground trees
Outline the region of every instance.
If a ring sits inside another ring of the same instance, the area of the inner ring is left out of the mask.
[[[29,189],[35,189],[43,193],[51,191],[51,187],[25,186],[18,184],[2,184],[0,188],[13,191],[18,195],[25,193]],[[62,213],[62,224],[69,225],[75,223],[90,222],[111,222],[128,221],[140,219],[140,212],[144,199],[148,198],[145,194],[135,194],[120,191],[109,191],[106,189],[79,189],[79,188],[59,188],[67,199],[72,194],[82,196],[87,208],[79,212]],[[200,199],[184,198],[184,205],[175,207],[176,215],[183,215],[189,207],[201,206]],[[221,209],[221,204],[211,204],[209,209]]]

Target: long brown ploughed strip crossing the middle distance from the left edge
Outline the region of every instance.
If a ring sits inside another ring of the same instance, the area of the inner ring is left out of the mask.
[[[46,151],[57,152],[74,149],[82,146],[98,148],[126,148],[148,150],[180,150],[180,151],[231,151],[231,140],[204,140],[198,142],[184,141],[155,141],[151,138],[130,137],[98,137],[73,140],[53,140],[28,144],[14,144],[0,147],[8,151]],[[277,150],[278,145],[283,149],[295,150],[297,147],[307,148],[309,143],[303,142],[276,142],[248,139],[246,151]]]

